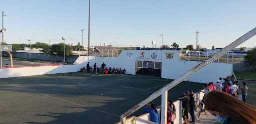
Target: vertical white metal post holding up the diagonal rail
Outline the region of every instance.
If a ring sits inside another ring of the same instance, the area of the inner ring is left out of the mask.
[[[167,120],[167,93],[167,90],[161,93],[161,124],[166,124]]]

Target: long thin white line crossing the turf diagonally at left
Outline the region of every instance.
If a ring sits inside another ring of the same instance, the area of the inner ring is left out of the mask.
[[[40,92],[37,92],[37,91],[34,91],[34,90],[30,90],[30,89],[24,88],[24,87],[20,87],[20,86],[17,86],[17,85],[5,83],[5,82],[2,82],[2,81],[0,81],[0,82],[4,83],[4,84],[11,85],[11,86],[19,87],[19,88],[22,88],[22,89],[25,89],[25,90],[29,90],[29,91],[32,91],[32,92],[35,92],[35,93],[38,93],[38,94],[41,94],[41,95],[44,95],[44,96],[48,96],[48,97],[54,98],[54,99],[58,99],[58,100],[61,100],[61,101],[67,102],[67,103],[71,103],[71,104],[74,104],[74,105],[77,105],[77,106],[82,106],[82,107],[86,107],[86,108],[89,108],[89,109],[92,109],[92,110],[96,110],[96,111],[99,111],[99,112],[102,112],[102,113],[106,113],[106,114],[109,114],[109,115],[112,115],[112,116],[115,116],[115,117],[118,117],[118,118],[120,117],[120,116],[117,116],[117,115],[114,115],[114,114],[111,114],[111,113],[108,113],[108,112],[105,112],[105,111],[102,111],[102,110],[98,110],[98,109],[87,107],[87,106],[84,106],[84,105],[81,105],[81,104],[73,103],[73,102],[70,102],[70,101],[67,101],[67,100],[63,100],[63,99],[60,99],[60,98],[57,98],[57,97],[53,97],[53,96],[50,96],[50,95],[47,95],[47,94],[44,94],[44,93],[40,93]]]

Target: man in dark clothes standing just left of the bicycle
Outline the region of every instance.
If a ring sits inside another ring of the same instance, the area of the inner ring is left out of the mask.
[[[190,90],[189,91],[189,114],[191,116],[192,121],[190,121],[189,123],[191,124],[195,124],[195,97],[193,94],[193,91]]]

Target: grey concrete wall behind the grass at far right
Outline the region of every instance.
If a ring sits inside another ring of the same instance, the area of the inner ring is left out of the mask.
[[[256,67],[254,67],[256,69]],[[247,61],[236,61],[233,63],[233,71],[240,72],[240,71],[250,71],[250,67]]]

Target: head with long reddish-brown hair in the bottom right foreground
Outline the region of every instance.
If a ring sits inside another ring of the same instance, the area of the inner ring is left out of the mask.
[[[256,109],[224,92],[213,90],[204,98],[205,109],[224,124],[256,124]]]

